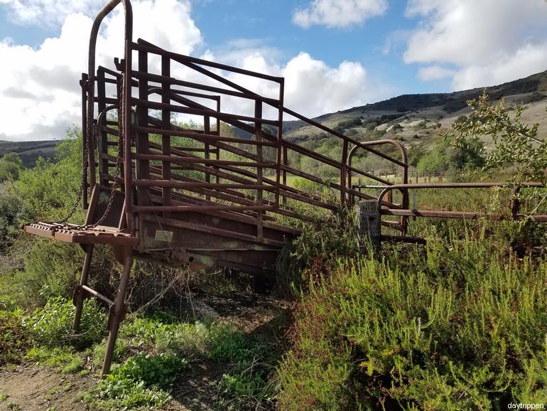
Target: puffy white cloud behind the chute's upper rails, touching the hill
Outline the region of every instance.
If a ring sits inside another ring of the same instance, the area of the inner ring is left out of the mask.
[[[290,58],[287,63],[281,64],[271,59],[269,48],[261,48],[258,44],[254,46],[232,52],[224,50],[226,54],[223,54],[222,58],[207,50],[202,58],[285,78],[284,105],[306,117],[364,105],[386,97],[391,92],[385,85],[372,82],[361,63],[344,61],[337,67],[331,67],[323,60],[317,60],[309,53],[301,52]],[[278,88],[273,82],[233,74],[227,78],[252,92],[266,97],[278,97]],[[232,102],[229,98],[223,97],[222,111],[252,115],[252,110],[250,102]],[[265,110],[264,114],[269,118],[275,118],[271,109]]]

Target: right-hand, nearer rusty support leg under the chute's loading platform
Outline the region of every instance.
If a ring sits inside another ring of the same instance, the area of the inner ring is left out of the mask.
[[[131,272],[131,262],[133,262],[133,257],[127,255],[124,258],[124,271],[121,273],[118,294],[114,301],[114,305],[110,307],[107,352],[104,354],[101,376],[107,375],[110,372],[110,365],[112,364],[112,357],[114,356],[114,346],[116,345],[116,339],[118,338],[119,324],[125,318],[125,294],[127,291],[127,283],[129,282],[129,272]]]

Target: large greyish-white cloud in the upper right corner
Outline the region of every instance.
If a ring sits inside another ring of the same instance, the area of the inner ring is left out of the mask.
[[[409,0],[421,18],[408,40],[406,63],[428,63],[423,80],[451,75],[453,88],[482,87],[547,67],[547,3],[543,0]],[[449,73],[443,65],[455,66]],[[438,68],[431,68],[438,67]]]

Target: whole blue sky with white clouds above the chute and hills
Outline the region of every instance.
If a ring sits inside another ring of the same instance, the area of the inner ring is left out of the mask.
[[[0,139],[63,137],[105,0],[0,0]],[[134,0],[136,36],[286,78],[310,117],[405,93],[484,87],[547,69],[545,0]],[[120,9],[120,8],[118,8]],[[99,62],[117,53],[104,21]]]

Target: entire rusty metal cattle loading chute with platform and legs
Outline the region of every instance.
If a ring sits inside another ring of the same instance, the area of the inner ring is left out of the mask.
[[[124,57],[114,59],[112,68],[96,67],[100,24],[119,3],[125,13]],[[286,240],[300,234],[281,218],[313,221],[305,210],[334,211],[355,200],[377,201],[380,214],[397,218],[381,225],[399,231],[393,240],[404,240],[408,216],[419,215],[408,207],[408,189],[416,185],[408,184],[406,150],[399,142],[347,137],[285,107],[283,78],[172,53],[141,39],[134,42],[132,24],[130,1],[112,0],[92,27],[88,73],[80,81],[85,223],[32,223],[23,228],[78,243],[85,250],[73,326],[77,330],[80,325],[85,297],[110,306],[103,373],[109,372],[124,319],[134,257],[271,273]],[[242,84],[254,85],[254,90]],[[197,119],[195,124],[202,127],[181,127],[175,120],[179,115]],[[340,158],[284,139],[287,117],[335,137]],[[239,137],[224,133],[223,123],[238,129]],[[384,154],[379,146],[394,146],[400,156]],[[401,169],[402,184],[357,169],[352,159],[358,151]],[[293,156],[328,166],[339,178],[298,168],[291,164]],[[335,198],[295,188],[288,176],[328,188]],[[362,193],[352,184],[355,176],[386,189],[380,196]],[[391,188],[401,193],[400,203],[391,196],[384,200]],[[112,245],[124,266],[114,299],[88,285],[95,244]]]

